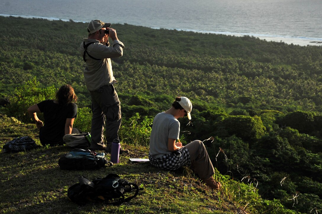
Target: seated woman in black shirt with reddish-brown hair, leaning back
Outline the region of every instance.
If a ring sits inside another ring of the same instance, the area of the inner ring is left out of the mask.
[[[55,100],[44,100],[28,108],[28,113],[39,129],[39,139],[43,146],[63,145],[62,137],[71,134],[77,116],[77,96],[71,85],[63,85],[56,93]],[[42,112],[44,123],[37,113]]]

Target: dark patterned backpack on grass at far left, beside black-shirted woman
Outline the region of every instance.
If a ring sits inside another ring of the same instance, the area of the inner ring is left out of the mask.
[[[39,147],[41,146],[37,145],[31,137],[24,136],[6,142],[2,148],[4,152],[19,152],[38,149]]]

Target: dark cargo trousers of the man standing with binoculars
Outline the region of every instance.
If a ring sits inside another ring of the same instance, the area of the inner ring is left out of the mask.
[[[92,127],[90,148],[100,149],[104,145],[103,131],[106,130],[106,150],[110,151],[113,139],[118,139],[121,126],[121,105],[113,85],[104,85],[90,91],[92,98]]]

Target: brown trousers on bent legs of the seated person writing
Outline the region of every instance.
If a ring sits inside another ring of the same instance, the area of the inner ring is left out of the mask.
[[[213,164],[210,161],[204,143],[198,140],[192,141],[191,143],[188,143],[185,148],[188,149],[190,154],[190,168],[198,174],[199,178],[206,180],[212,177],[214,174]]]

